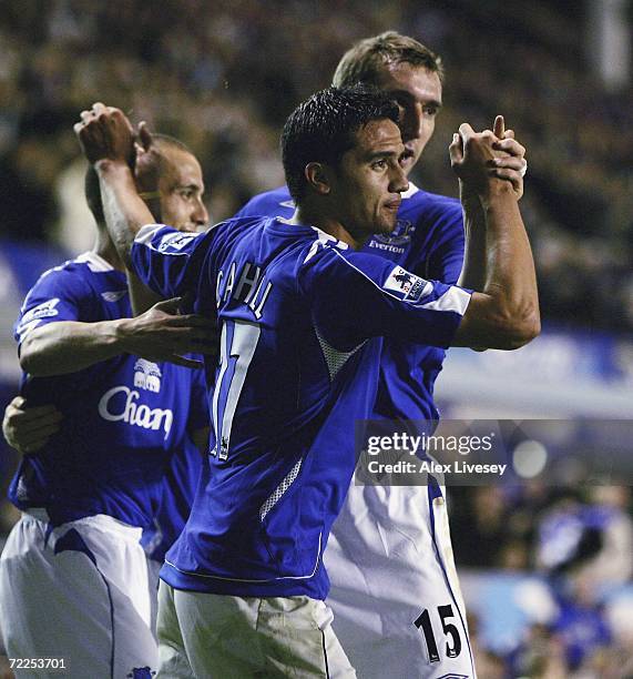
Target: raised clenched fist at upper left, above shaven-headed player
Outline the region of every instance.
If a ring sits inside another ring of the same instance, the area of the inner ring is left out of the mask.
[[[134,130],[120,109],[94,103],[92,109],[81,112],[74,132],[90,163],[112,160],[132,165]]]

